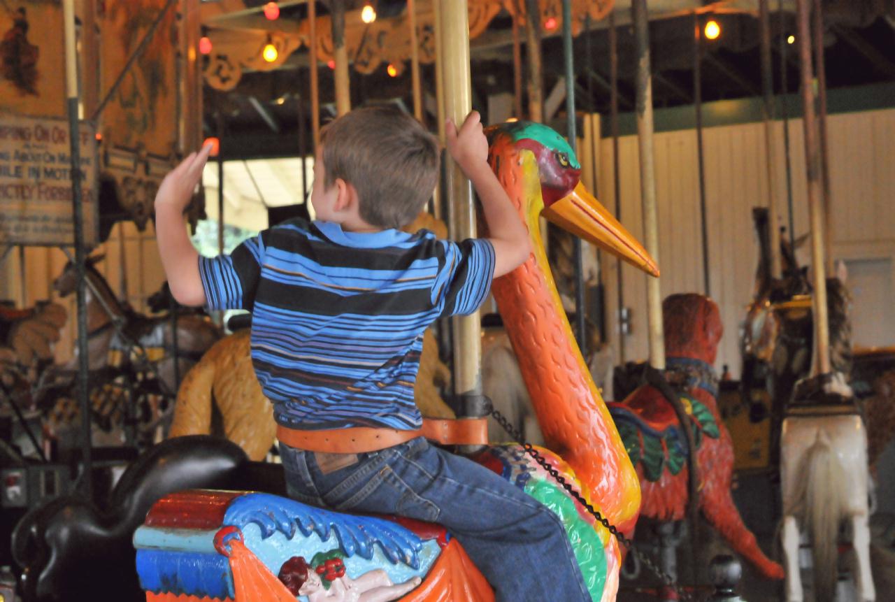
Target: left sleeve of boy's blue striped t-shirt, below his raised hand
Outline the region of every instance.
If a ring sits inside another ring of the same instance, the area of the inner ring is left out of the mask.
[[[251,311],[263,260],[260,235],[246,239],[230,255],[200,257],[199,276],[208,308]]]

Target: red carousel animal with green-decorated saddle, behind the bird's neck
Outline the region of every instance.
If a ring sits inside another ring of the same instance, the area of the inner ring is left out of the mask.
[[[678,414],[660,390],[641,386],[625,401],[609,403],[640,478],[641,514],[656,521],[680,521],[687,504],[695,503],[730,547],[765,577],[782,579],[780,564],[763,554],[730,494],[733,443],[718,411],[718,377],[712,368],[723,332],[718,306],[700,294],[670,295],[662,303],[662,321],[665,378],[691,423],[699,487],[694,500],[688,487],[690,447]]]

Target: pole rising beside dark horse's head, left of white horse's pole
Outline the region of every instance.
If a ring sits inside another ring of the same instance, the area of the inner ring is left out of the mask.
[[[777,145],[773,139],[774,122],[774,74],[771,64],[771,11],[770,0],[758,0],[761,21],[762,47],[762,94],[764,118],[764,154],[767,159],[768,213],[771,234],[771,278],[780,278],[780,227],[778,226],[777,179],[774,168],[777,165]]]

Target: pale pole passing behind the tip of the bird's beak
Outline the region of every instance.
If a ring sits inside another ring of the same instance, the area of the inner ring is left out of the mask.
[[[656,211],[656,174],[652,149],[652,73],[650,71],[650,23],[646,0],[633,0],[637,47],[637,146],[640,149],[640,193],[644,206],[646,250],[659,263],[659,219]],[[649,326],[650,364],[665,369],[662,331],[662,293],[659,278],[646,281],[646,319]]]

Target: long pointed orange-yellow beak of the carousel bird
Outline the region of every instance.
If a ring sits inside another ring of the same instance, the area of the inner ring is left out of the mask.
[[[578,183],[567,196],[544,208],[541,215],[601,249],[608,250],[650,276],[659,276],[659,267],[625,226],[606,210],[600,201]]]

